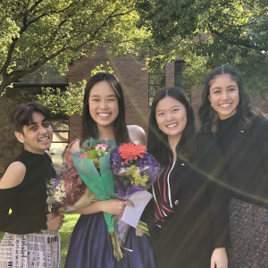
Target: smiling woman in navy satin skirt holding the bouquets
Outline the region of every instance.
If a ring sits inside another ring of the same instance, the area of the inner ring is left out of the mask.
[[[88,80],[82,114],[82,139],[87,138],[114,140],[114,146],[130,141],[146,143],[144,130],[138,126],[126,126],[121,85],[113,74],[101,72]],[[71,152],[80,151],[81,146],[82,142],[76,141]],[[119,199],[94,199],[90,205],[76,211],[81,216],[71,235],[65,268],[155,267],[149,238],[146,234],[137,236],[133,228],[121,247],[122,258],[117,260],[113,255],[113,242],[104,213],[114,217],[122,215],[125,206],[132,203]]]

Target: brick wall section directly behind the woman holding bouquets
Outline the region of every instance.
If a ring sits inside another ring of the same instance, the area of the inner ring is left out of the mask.
[[[104,49],[95,52],[95,57],[89,54],[80,61],[73,63],[69,69],[69,81],[77,83],[88,80],[95,66],[109,62],[114,74],[121,82],[126,105],[127,124],[137,124],[147,130],[148,107],[148,73],[142,71],[145,62],[137,62],[131,55],[113,58]],[[80,137],[80,115],[70,116],[70,140]]]

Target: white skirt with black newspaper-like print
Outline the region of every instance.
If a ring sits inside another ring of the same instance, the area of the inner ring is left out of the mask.
[[[0,268],[59,268],[60,244],[58,231],[25,235],[6,232],[0,244]]]

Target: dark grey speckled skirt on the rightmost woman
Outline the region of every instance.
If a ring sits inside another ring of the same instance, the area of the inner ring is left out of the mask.
[[[229,268],[268,268],[268,209],[230,198]]]

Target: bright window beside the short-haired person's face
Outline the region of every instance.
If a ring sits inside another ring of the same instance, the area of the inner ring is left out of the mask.
[[[56,116],[51,120],[53,127],[53,140],[50,153],[55,168],[60,168],[63,163],[63,151],[69,144],[69,120],[65,117]]]

